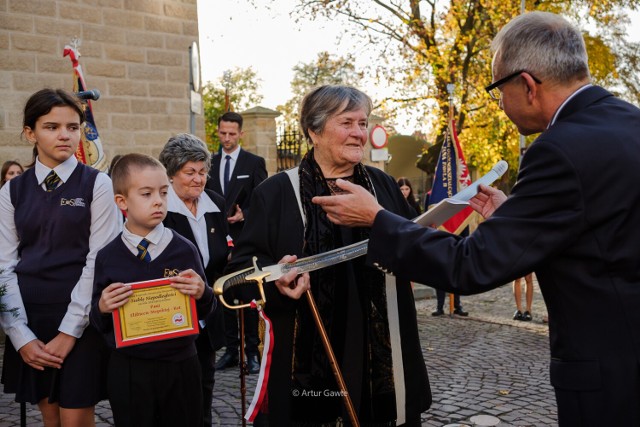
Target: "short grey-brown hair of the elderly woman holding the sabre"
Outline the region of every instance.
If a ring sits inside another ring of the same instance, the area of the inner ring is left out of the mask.
[[[321,134],[330,117],[358,109],[363,109],[369,116],[373,110],[369,95],[351,86],[319,86],[307,93],[300,103],[300,127],[309,141],[309,131]]]

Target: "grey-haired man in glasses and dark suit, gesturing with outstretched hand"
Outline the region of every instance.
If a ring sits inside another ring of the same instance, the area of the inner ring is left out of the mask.
[[[341,181],[351,194],[314,201],[339,224],[373,224],[368,261],[400,277],[473,294],[535,271],[559,425],[640,425],[640,110],[590,84],[582,35],[560,16],[515,18],[492,51],[487,91],[520,133],[542,133],[509,198],[472,199],[493,214],[473,234],[422,228]]]

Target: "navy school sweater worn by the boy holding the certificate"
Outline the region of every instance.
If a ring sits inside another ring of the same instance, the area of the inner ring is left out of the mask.
[[[104,336],[107,345],[115,351],[138,359],[153,359],[178,362],[196,355],[197,335],[172,338],[164,341],[138,344],[116,349],[113,332],[113,316],[102,314],[98,302],[102,290],[111,283],[141,282],[175,275],[176,272],[193,269],[205,281],[205,291],[196,301],[198,319],[204,319],[215,306],[215,298],[210,286],[206,285],[204,269],[195,246],[178,233],[171,230],[173,238],[164,251],[147,263],[132,254],[118,235],[102,248],[96,256],[96,268],[91,298],[91,324]]]

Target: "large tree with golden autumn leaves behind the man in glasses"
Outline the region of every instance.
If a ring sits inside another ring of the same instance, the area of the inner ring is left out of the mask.
[[[562,14],[582,28],[594,83],[638,103],[640,46],[626,40],[625,28],[628,11],[639,5],[639,0],[527,0],[525,6]],[[377,49],[372,74],[380,84],[401,83],[397,95],[380,100],[380,106],[389,111],[422,105],[425,120],[435,120],[432,140],[446,129],[446,88],[455,84],[454,117],[467,162],[484,173],[499,159],[518,164],[517,129],[484,87],[492,80],[491,40],[520,7],[515,0],[299,0],[293,14],[341,21],[369,50]]]

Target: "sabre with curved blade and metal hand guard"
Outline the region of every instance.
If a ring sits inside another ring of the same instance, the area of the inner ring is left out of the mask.
[[[306,258],[300,258],[295,262],[274,264],[263,268],[258,267],[257,258],[253,257],[253,267],[245,268],[244,270],[236,271],[235,273],[220,277],[213,285],[213,292],[220,297],[220,302],[227,308],[246,308],[251,304],[230,305],[224,300],[223,294],[234,286],[255,283],[258,285],[258,290],[260,291],[260,298],[262,298],[261,301],[264,302],[265,296],[264,289],[262,287],[263,280],[265,282],[273,282],[287,274],[293,268],[297,268],[298,273],[302,274],[349,261],[359,256],[366,255],[368,244],[369,240],[363,240],[332,251],[323,252]],[[257,302],[260,303],[260,301]]]

